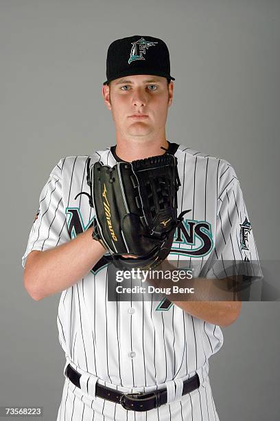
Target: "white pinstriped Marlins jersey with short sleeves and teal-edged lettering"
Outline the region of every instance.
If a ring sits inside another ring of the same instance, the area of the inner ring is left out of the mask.
[[[240,182],[229,162],[179,145],[178,213],[191,209],[176,230],[170,257],[200,261],[209,257],[258,261]],[[62,158],[40,193],[39,209],[22,264],[32,250],[63,244],[89,228],[93,208],[86,195],[85,156]],[[110,148],[91,163],[116,163]],[[242,228],[243,227],[243,228]],[[248,227],[250,228],[248,230]],[[247,231],[246,231],[247,230]],[[138,388],[163,385],[196,371],[208,375],[208,359],[222,347],[222,330],[171,305],[154,301],[108,301],[108,264],[101,259],[83,279],[62,291],[59,341],[67,361],[100,383]],[[136,389],[135,389],[136,390]]]

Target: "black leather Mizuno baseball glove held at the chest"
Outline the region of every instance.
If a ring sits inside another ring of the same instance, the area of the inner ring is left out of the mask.
[[[84,194],[95,209],[93,239],[121,270],[155,268],[169,255],[176,227],[188,212],[177,217],[177,158],[165,153],[113,167],[89,162],[91,194]]]

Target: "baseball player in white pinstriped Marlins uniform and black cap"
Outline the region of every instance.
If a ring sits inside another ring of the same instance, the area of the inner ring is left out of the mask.
[[[226,160],[166,139],[175,79],[161,39],[111,43],[106,76],[102,95],[116,144],[54,166],[22,258],[32,298],[61,293],[58,338],[66,363],[57,421],[218,421],[209,358],[240,302],[108,301],[108,250],[93,239],[93,208],[79,193],[89,193],[88,159],[112,167],[162,155],[164,147],[178,160],[178,212],[189,210],[169,257],[200,263],[207,277],[213,257],[244,266],[259,261],[240,182]]]

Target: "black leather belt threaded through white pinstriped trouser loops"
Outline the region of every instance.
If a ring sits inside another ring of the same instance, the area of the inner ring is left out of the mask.
[[[71,365],[67,365],[66,374],[69,380],[73,383],[73,385],[80,387],[80,376],[81,374],[78,373]],[[183,393],[190,393],[195,389],[198,389],[200,385],[198,374],[195,376],[185,380],[183,382]],[[123,393],[121,391],[117,391],[115,389],[111,389],[110,387],[106,387],[103,385],[99,385],[95,383],[95,395],[98,398],[110,400],[111,402],[117,402],[121,404],[124,409],[128,409],[130,411],[150,411],[150,409],[154,409],[160,407],[167,402],[167,389],[159,389],[148,393],[138,392],[138,393]]]

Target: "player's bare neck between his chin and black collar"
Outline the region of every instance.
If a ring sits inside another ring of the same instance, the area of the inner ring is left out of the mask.
[[[117,142],[116,154],[124,161],[132,162],[134,160],[141,160],[149,158],[150,156],[163,155],[164,149],[168,149],[168,142],[166,138],[156,140],[121,140]]]

